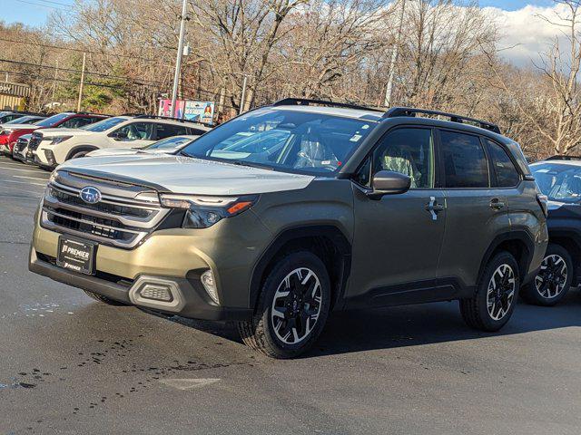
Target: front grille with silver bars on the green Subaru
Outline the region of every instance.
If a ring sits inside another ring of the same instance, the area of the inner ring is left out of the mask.
[[[64,182],[57,176],[44,195],[42,226],[54,231],[131,249],[142,243],[169,212],[159,201],[136,199],[135,186],[119,189],[103,179],[84,179],[86,186],[101,187],[102,192],[114,186],[117,193],[103,194],[101,201],[88,204],[80,196],[82,189],[61,184]],[[152,190],[141,193],[151,194]]]

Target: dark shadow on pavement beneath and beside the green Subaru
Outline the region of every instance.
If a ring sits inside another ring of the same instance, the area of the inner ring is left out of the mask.
[[[581,293],[572,291],[555,307],[520,302],[497,333],[470,329],[458,302],[408,305],[332,314],[320,340],[304,357],[353,353],[431,343],[474,340],[581,326]]]

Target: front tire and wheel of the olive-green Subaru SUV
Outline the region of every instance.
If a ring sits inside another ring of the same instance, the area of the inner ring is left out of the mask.
[[[327,268],[308,251],[293,252],[271,268],[256,313],[238,330],[252,349],[271,358],[294,358],[315,343],[329,310]]]

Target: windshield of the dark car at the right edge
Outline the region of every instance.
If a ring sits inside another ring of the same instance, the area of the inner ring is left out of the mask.
[[[569,203],[581,200],[581,167],[547,162],[531,165],[530,169],[538,189],[550,200]]]

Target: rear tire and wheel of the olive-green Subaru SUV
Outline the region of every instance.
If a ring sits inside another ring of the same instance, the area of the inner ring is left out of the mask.
[[[464,321],[480,331],[498,331],[515,310],[519,287],[517,260],[508,252],[498,253],[488,261],[476,294],[460,300]]]

